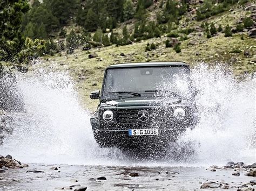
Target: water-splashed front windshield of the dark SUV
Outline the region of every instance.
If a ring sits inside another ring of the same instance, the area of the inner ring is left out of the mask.
[[[156,96],[159,92],[180,94],[189,88],[186,67],[136,67],[107,69],[103,97]]]

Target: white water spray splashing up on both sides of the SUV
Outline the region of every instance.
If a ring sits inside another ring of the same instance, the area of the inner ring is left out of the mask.
[[[192,70],[200,122],[178,143],[194,143],[196,160],[189,165],[223,164],[227,160],[253,162],[255,83],[235,80],[224,68],[200,64]],[[89,111],[80,107],[70,75],[37,69],[17,75],[25,113],[14,114],[14,131],[0,146],[25,162],[84,165],[133,165],[116,148],[99,148],[93,139]],[[177,163],[177,161],[176,161]],[[172,159],[141,165],[174,165]],[[186,164],[188,165],[188,164]]]

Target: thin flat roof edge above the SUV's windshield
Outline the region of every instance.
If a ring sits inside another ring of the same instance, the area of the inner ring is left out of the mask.
[[[147,66],[186,66],[185,62],[136,62],[136,63],[118,63],[110,65],[107,68],[127,68],[127,67],[147,67]]]

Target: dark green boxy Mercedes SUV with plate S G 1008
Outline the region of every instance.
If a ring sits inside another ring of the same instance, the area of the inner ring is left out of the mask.
[[[184,62],[122,63],[106,68],[91,116],[102,147],[168,145],[198,122],[190,67]]]

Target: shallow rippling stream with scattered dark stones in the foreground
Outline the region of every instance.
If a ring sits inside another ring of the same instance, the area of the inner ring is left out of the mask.
[[[143,167],[22,164],[0,155],[0,189],[237,189],[255,190],[256,163]]]

